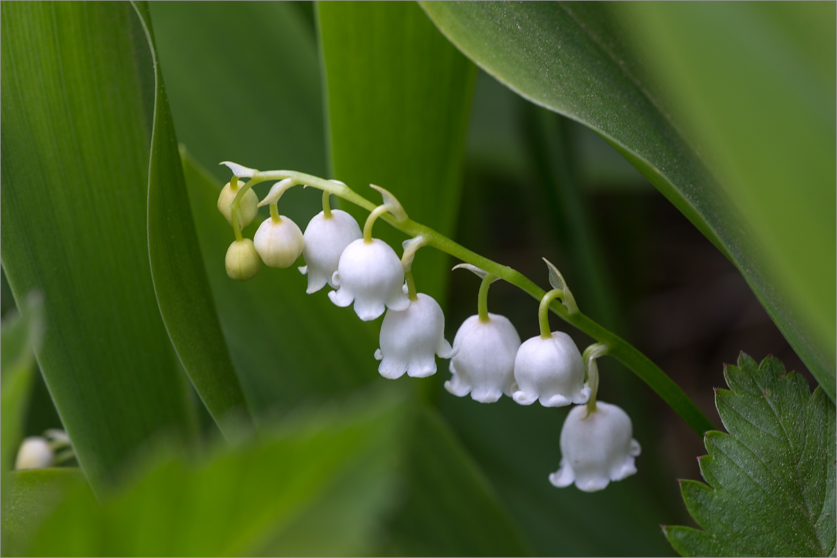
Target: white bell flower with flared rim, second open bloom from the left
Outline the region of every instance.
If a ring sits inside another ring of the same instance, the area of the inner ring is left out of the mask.
[[[401,289],[401,259],[388,243],[377,238],[369,243],[363,238],[350,243],[340,255],[331,282],[339,287],[328,294],[331,302],[348,306],[354,301],[357,317],[363,321],[376,319],[385,307],[400,311],[410,305]]]

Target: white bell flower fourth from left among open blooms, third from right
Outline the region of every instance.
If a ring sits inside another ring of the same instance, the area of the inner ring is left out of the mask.
[[[465,320],[454,336],[454,357],[450,361],[449,381],[444,389],[456,397],[470,396],[480,403],[496,402],[503,394],[511,396],[515,381],[515,355],[520,335],[506,316],[488,313]]]

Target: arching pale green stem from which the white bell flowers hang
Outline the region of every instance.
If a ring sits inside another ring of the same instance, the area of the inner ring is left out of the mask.
[[[252,179],[244,184],[244,186],[239,187],[239,192],[231,204],[233,215],[235,215],[235,212],[239,208],[241,197],[244,196],[244,193],[250,187],[259,182],[284,180],[285,178],[290,178],[295,184],[302,184],[315,187],[324,192],[330,192],[347,202],[352,202],[358,207],[363,207],[369,212],[373,212],[378,207],[376,203],[370,202],[367,198],[362,197],[347,186],[341,186],[340,184],[303,172],[254,171]],[[444,234],[438,233],[432,228],[421,223],[416,223],[410,218],[399,221],[389,213],[383,213],[380,218],[392,225],[393,228],[411,237],[423,236],[426,239],[426,246],[437,248],[444,253],[449,253],[454,258],[483,269],[486,273],[496,275],[506,281],[506,283],[515,285],[518,289],[521,289],[534,299],[541,300],[547,294],[547,291],[538,287],[531,279],[516,269],[480,256],[480,254],[470,251],[459,243],[455,243],[450,238],[444,236]],[[591,320],[581,311],[573,312],[573,314],[568,313],[567,308],[560,301],[553,300],[549,305],[549,310],[552,310],[552,313],[568,324],[590,335],[599,343],[608,346],[609,355],[614,356],[614,358],[627,366],[630,371],[633,371],[634,374],[639,376],[640,380],[648,384],[696,433],[702,436],[707,430],[716,429],[715,425],[712,424],[701,409],[691,401],[686,393],[669,376],[665,375],[664,371],[660,370],[659,366],[656,366],[647,356],[644,356],[634,346],[619,337],[619,335],[614,334],[612,331],[607,330],[602,325]]]

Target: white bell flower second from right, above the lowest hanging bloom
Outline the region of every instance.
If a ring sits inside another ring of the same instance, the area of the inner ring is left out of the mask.
[[[581,353],[563,331],[553,331],[547,339],[537,335],[523,341],[515,357],[515,382],[511,398],[521,405],[540,400],[544,407],[564,407],[590,398]]]

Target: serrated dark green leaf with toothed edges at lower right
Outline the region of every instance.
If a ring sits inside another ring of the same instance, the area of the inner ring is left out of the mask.
[[[666,527],[690,556],[833,556],[834,403],[822,388],[768,356],[742,355],[724,370],[731,391],[715,402],[727,433],[706,434],[706,484],[680,484],[705,531]]]

